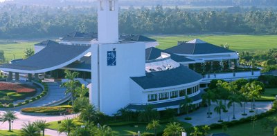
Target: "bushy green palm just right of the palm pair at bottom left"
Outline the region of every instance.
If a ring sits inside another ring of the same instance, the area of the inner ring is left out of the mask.
[[[63,120],[60,128],[58,128],[59,133],[66,133],[66,135],[70,135],[71,130],[76,127],[74,119],[66,118]]]

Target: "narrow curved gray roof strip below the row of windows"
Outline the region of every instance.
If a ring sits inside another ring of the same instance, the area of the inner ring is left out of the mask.
[[[190,98],[193,99],[193,101],[198,101],[198,100],[202,99],[203,93],[204,93],[204,91],[202,91],[198,95],[195,95]],[[143,110],[146,108],[146,106],[152,106],[153,108],[166,108],[166,107],[170,107],[170,106],[179,106],[182,102],[184,102],[184,99],[179,99],[176,101],[167,101],[167,102],[158,103],[158,104],[149,104],[149,105],[129,104],[125,108],[127,108],[129,110]]]

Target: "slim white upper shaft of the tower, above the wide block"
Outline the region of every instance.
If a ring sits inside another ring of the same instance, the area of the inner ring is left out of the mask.
[[[98,42],[118,43],[118,0],[98,1]]]

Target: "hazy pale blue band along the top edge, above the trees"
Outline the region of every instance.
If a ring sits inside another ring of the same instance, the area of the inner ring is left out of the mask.
[[[3,0],[2,0],[3,1]],[[93,6],[96,0],[6,0],[36,6]],[[3,3],[2,3],[3,4]],[[0,3],[1,5],[1,3]],[[120,6],[277,6],[276,0],[120,0]]]

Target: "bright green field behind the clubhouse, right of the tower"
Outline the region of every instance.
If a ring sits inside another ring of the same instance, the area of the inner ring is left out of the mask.
[[[202,39],[217,46],[228,43],[231,50],[236,51],[256,51],[276,48],[277,35],[161,35],[150,36],[159,41],[158,48],[166,49],[177,45],[177,41],[189,41],[192,39]]]

